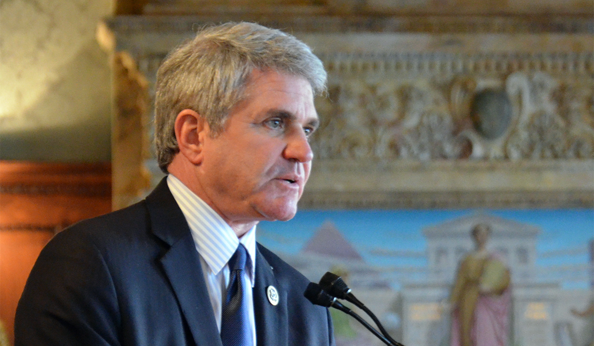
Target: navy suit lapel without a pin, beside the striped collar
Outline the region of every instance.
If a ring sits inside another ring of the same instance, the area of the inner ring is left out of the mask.
[[[146,203],[153,233],[170,246],[159,260],[196,345],[222,346],[194,239],[166,179]]]

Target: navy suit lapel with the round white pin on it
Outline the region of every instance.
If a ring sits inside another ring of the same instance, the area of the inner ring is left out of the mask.
[[[267,289],[276,288],[279,303],[274,306],[268,300]],[[254,284],[254,315],[258,346],[285,346],[289,335],[287,325],[287,293],[274,277],[266,258],[256,246],[256,278]]]

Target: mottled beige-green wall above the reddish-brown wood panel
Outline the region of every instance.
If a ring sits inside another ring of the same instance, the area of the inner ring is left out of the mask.
[[[0,158],[110,159],[110,69],[95,39],[112,0],[0,2]]]

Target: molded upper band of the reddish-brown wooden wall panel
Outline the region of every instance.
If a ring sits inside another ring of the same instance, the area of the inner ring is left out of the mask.
[[[109,163],[0,161],[0,230],[60,231],[111,211]]]

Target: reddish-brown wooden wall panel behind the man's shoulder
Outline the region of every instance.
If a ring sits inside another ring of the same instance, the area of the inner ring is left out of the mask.
[[[109,163],[0,161],[0,320],[14,314],[33,264],[52,236],[111,210]]]

